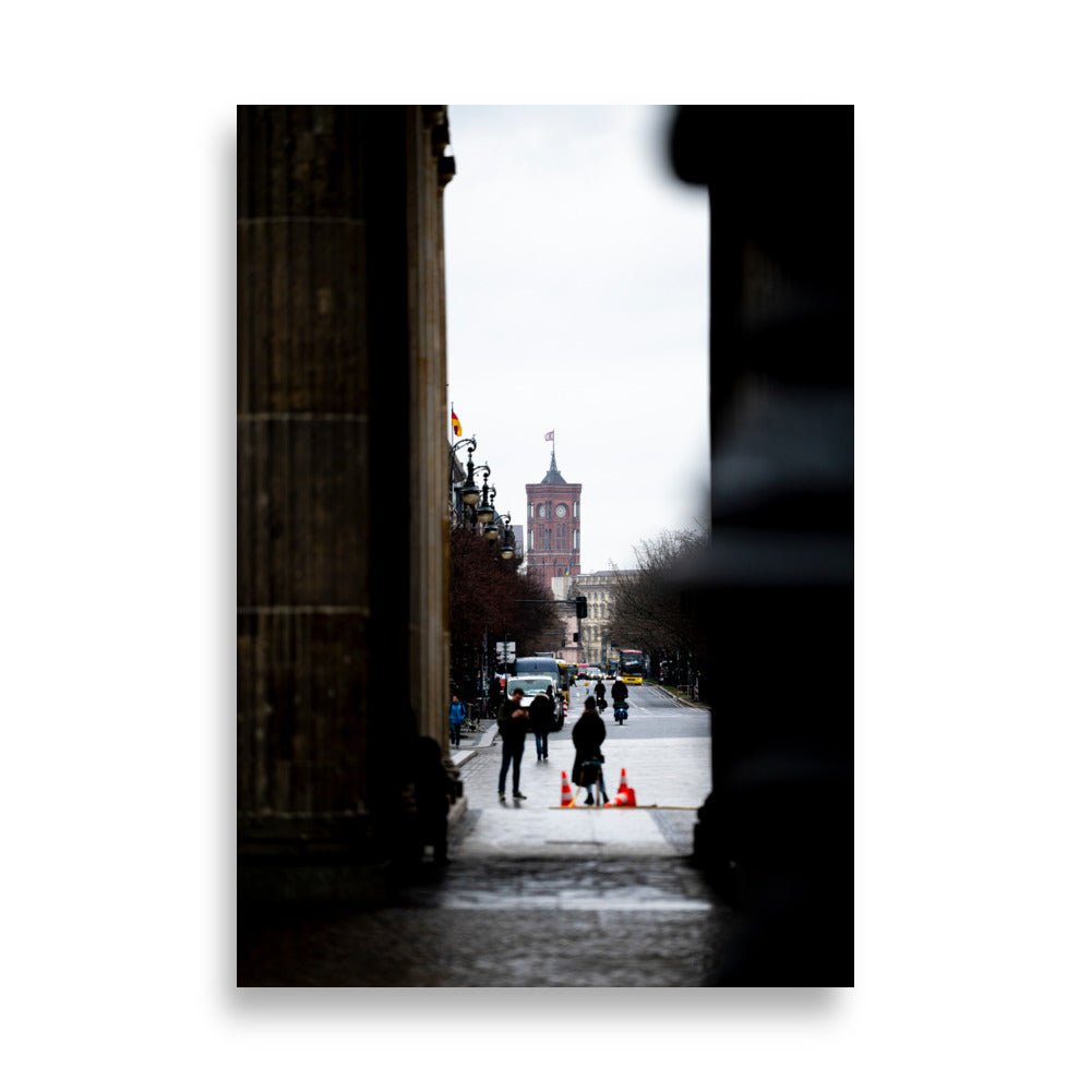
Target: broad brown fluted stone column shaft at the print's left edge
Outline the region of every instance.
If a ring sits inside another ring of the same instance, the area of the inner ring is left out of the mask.
[[[371,496],[364,140],[239,110],[239,810],[361,812]]]

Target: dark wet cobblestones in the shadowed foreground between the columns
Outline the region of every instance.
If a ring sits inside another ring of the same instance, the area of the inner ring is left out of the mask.
[[[730,927],[682,859],[475,861],[397,906],[255,931],[239,984],[697,986]]]

